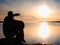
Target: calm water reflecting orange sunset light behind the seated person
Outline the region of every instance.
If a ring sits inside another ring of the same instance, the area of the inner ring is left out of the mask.
[[[24,34],[27,43],[60,42],[60,23],[26,24]],[[4,38],[2,23],[0,23],[0,38]]]

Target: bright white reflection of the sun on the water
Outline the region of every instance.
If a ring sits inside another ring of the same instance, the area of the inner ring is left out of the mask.
[[[50,32],[48,30],[48,23],[47,22],[42,22],[41,23],[41,28],[39,29],[39,33],[38,33],[42,39],[46,39]]]

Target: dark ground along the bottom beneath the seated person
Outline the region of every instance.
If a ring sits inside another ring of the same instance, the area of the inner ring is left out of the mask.
[[[3,39],[0,39],[0,45],[52,45],[52,44],[40,44],[40,43],[37,43],[37,44],[17,44],[17,41],[15,39],[12,39],[12,40],[6,40],[5,38]]]

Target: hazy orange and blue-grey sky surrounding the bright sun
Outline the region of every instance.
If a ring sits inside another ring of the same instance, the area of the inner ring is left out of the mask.
[[[54,11],[54,13],[44,19],[60,20],[60,0],[0,0],[0,20],[4,19],[9,10],[14,13],[21,13],[25,21],[44,20],[36,12],[44,4]]]

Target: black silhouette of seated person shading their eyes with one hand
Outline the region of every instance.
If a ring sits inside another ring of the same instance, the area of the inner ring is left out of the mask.
[[[16,35],[17,41],[25,42],[24,40],[24,22],[14,20],[14,16],[18,16],[19,14],[13,14],[12,11],[8,12],[8,16],[5,17],[3,22],[3,33],[5,37],[9,39],[13,39]]]

